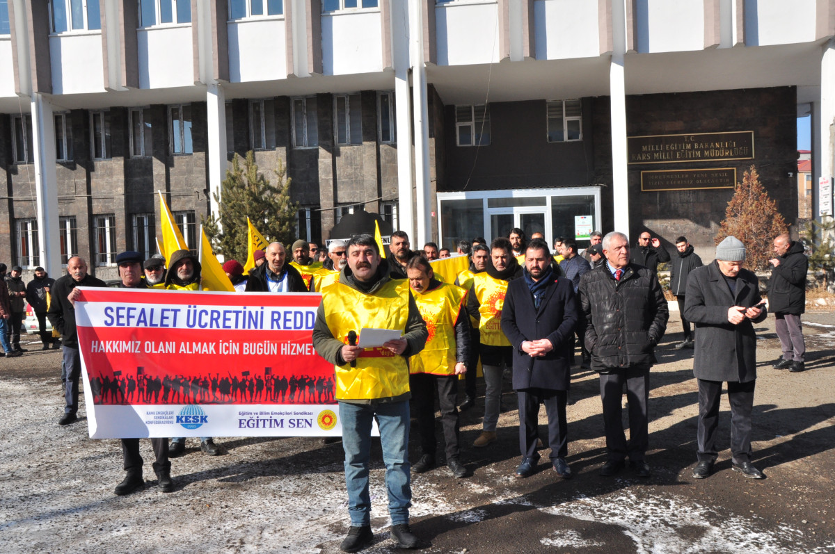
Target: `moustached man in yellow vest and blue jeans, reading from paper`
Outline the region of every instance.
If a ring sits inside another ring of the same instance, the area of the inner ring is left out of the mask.
[[[313,347],[333,364],[351,529],[340,548],[356,552],[371,543],[368,466],[373,421],[380,430],[386,464],[391,536],[400,548],[420,542],[409,529],[412,486],[409,473],[408,359],[423,350],[426,323],[409,293],[407,280],[392,280],[386,259],[369,234],[347,244],[348,266],[322,290],[313,327]],[[363,329],[395,330],[400,338],[360,346]],[[359,335],[359,336],[357,336]]]

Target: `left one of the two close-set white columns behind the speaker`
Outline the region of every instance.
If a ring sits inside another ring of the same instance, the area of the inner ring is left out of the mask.
[[[392,22],[408,20],[408,4],[408,0],[392,0]],[[408,29],[407,26],[404,27]],[[392,32],[392,64],[394,66],[394,118],[397,129],[397,196],[399,197],[397,226],[399,230],[405,231],[409,235],[410,240],[414,240],[412,93],[409,90],[408,33]]]

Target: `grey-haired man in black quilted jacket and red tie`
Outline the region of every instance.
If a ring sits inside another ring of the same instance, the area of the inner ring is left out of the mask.
[[[670,313],[655,271],[630,263],[626,235],[613,231],[602,244],[605,263],[584,274],[578,290],[586,325],[585,347],[591,353],[591,369],[600,373],[609,451],[600,475],[614,476],[629,456],[635,475],[649,477],[644,454],[649,446],[650,366]],[[629,400],[629,445],[620,420],[624,385]]]

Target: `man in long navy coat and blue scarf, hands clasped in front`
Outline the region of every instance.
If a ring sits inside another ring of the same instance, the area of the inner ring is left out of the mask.
[[[519,449],[522,463],[516,476],[534,473],[539,460],[539,404],[548,414],[551,465],[563,479],[571,478],[565,402],[571,380],[569,357],[574,350],[577,303],[571,280],[552,269],[548,244],[533,239],[525,250],[524,279],[510,281],[502,308],[502,330],[513,346],[514,389],[519,399]]]

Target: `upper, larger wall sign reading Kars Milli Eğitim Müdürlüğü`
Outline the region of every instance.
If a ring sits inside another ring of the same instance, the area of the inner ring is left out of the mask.
[[[681,164],[754,158],[754,132],[628,137],[630,164]]]

